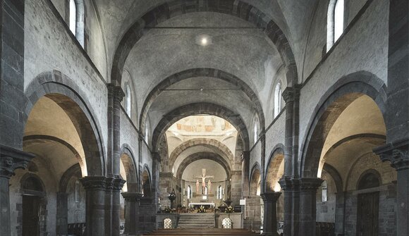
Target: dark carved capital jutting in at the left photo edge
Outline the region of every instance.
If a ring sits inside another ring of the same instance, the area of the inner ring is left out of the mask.
[[[11,178],[14,170],[27,168],[35,155],[0,145],[0,178]]]

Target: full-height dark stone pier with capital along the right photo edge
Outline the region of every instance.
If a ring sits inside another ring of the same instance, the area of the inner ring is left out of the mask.
[[[409,1],[389,1],[386,145],[374,149],[397,171],[397,235],[409,235]]]

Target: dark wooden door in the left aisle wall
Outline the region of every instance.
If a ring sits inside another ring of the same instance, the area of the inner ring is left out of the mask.
[[[39,197],[23,195],[23,236],[39,236]]]

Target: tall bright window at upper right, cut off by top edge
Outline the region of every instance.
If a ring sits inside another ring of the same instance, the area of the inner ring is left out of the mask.
[[[326,51],[329,51],[343,33],[344,0],[331,0],[328,6],[326,26]]]

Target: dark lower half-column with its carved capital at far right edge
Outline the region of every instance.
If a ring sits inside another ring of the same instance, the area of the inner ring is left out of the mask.
[[[374,149],[381,161],[390,161],[398,173],[396,184],[397,235],[409,235],[409,139]]]

